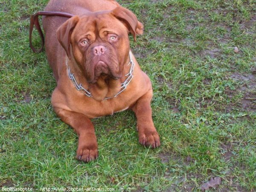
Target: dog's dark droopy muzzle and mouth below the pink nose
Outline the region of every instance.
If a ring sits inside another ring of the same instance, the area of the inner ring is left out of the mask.
[[[119,79],[122,73],[115,57],[100,55],[88,57],[85,62],[85,75],[89,83],[96,83],[101,76]]]

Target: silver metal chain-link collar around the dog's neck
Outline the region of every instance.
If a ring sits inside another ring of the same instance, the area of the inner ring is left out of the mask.
[[[130,56],[130,62],[129,62],[127,65],[131,64],[131,68],[130,68],[129,73],[127,73],[127,74],[125,75],[125,76],[128,76],[127,79],[126,79],[123,83],[121,83],[121,87],[120,87],[121,90],[120,90],[118,93],[116,93],[115,96],[113,96],[113,97],[105,97],[105,98],[102,99],[102,100],[115,98],[115,97],[118,96],[120,93],[122,93],[122,92],[126,89],[126,87],[128,86],[128,84],[131,82],[131,79],[133,78],[133,71],[134,71],[134,61],[133,61],[132,56],[131,56],[131,51],[129,52],[129,56]],[[67,70],[68,70],[68,77],[69,77],[69,79],[71,79],[71,81],[72,81],[73,84],[75,85],[76,89],[79,90],[79,91],[81,90],[86,96],[93,98],[92,94],[91,94],[88,90],[84,89],[84,87],[82,86],[81,83],[78,84],[78,83],[76,82],[76,79],[75,79],[75,77],[74,77],[74,73],[71,73],[71,71],[70,71],[70,66],[68,65],[68,59],[66,60],[66,65],[67,65],[67,67],[68,67],[68,69],[67,69]],[[88,87],[88,89],[89,89],[89,88],[90,88],[90,87]]]

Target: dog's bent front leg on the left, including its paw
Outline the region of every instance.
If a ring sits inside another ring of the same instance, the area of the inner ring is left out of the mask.
[[[94,127],[89,118],[81,113],[54,108],[61,120],[74,128],[78,135],[78,148],[76,158],[89,162],[98,157],[98,144]]]

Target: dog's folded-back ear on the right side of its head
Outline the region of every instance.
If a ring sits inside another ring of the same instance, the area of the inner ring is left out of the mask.
[[[128,28],[129,32],[134,37],[134,41],[136,41],[136,35],[142,35],[143,34],[143,24],[138,21],[136,15],[134,15],[133,12],[130,10],[118,6],[116,9],[113,9],[111,12],[112,15],[114,15],[117,19],[122,21],[125,26]]]

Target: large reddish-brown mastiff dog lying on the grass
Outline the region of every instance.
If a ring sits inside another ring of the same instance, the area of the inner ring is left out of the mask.
[[[90,119],[131,109],[142,145],[155,148],[160,139],[151,117],[152,87],[130,51],[143,25],[115,0],[50,0],[45,11],[68,12],[43,17],[47,59],[57,81],[52,106],[79,136],[77,159],[98,157]]]

